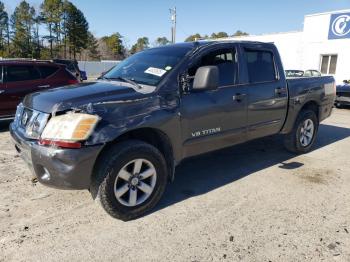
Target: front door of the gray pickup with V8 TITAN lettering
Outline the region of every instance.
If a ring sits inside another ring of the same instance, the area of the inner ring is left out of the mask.
[[[181,99],[181,125],[184,157],[230,146],[246,139],[247,92],[238,83],[235,45],[225,45],[204,53],[188,74],[200,66],[219,69],[216,90],[189,90]]]

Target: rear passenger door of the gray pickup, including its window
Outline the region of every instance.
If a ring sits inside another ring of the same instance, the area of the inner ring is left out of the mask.
[[[248,82],[248,139],[278,133],[283,127],[288,89],[277,49],[267,45],[242,45]]]

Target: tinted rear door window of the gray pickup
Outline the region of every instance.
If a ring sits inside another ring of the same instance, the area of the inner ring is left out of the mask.
[[[275,63],[271,52],[245,50],[245,57],[251,83],[276,80]]]

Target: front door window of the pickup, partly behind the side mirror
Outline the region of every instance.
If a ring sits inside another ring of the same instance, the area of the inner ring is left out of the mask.
[[[237,63],[232,49],[221,49],[204,55],[199,63],[188,70],[188,74],[193,77],[199,67],[212,65],[219,69],[219,86],[235,84]]]

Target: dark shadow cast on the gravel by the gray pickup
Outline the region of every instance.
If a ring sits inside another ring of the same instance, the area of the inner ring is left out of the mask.
[[[350,137],[349,128],[320,125],[314,150],[347,137]],[[297,169],[303,163],[290,162],[294,157],[294,154],[284,149],[283,138],[273,136],[185,160],[178,166],[175,181],[168,185],[164,197],[154,211],[193,196],[206,194],[276,164],[284,169]]]

